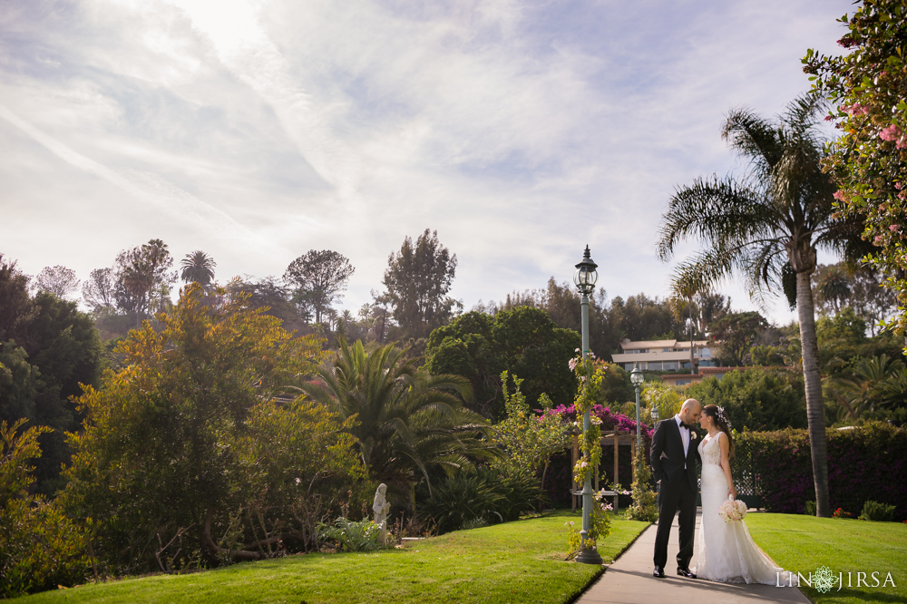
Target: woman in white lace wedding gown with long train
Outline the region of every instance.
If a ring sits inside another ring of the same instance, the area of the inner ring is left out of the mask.
[[[703,579],[725,583],[783,585],[780,581],[787,579],[787,573],[756,546],[744,521],[725,522],[718,515],[718,508],[728,497],[736,498],[727,461],[734,454],[734,439],[724,409],[707,404],[699,425],[708,435],[698,447],[702,459],[702,524],[698,567],[693,572]]]

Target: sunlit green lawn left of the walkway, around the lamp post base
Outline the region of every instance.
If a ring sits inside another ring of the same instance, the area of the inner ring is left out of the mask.
[[[35,594],[38,602],[551,602],[561,604],[598,577],[601,567],[564,562],[564,521],[542,518],[457,531],[405,550],[307,554],[188,575],[112,581]],[[600,543],[614,560],[648,524],[615,519]]]

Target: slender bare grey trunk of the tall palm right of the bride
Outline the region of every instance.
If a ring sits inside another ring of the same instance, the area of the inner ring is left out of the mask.
[[[800,318],[800,341],[803,346],[803,378],[806,385],[806,419],[813,457],[815,515],[828,518],[828,455],[825,447],[825,410],[822,402],[822,376],[819,375],[819,346],[815,338],[813,289],[810,273],[796,274],[796,307]]]

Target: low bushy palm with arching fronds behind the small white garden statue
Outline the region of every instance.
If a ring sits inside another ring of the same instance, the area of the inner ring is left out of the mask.
[[[469,381],[428,375],[404,352],[387,345],[369,354],[361,341],[350,346],[340,338],[333,364],[322,365],[316,382],[298,388],[342,418],[356,416],[349,433],[369,474],[408,492],[414,506],[420,474],[429,481],[433,466],[448,473],[472,467],[496,449],[484,438],[491,426],[461,402],[472,395]]]

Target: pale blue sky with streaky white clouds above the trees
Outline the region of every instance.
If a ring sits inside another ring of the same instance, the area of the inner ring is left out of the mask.
[[[781,112],[808,89],[805,50],[835,53],[848,10],[11,0],[0,252],[86,278],[158,238],[176,258],[205,250],[226,281],[331,248],[356,266],[355,310],[388,254],[430,228],[467,308],[570,279],[587,243],[610,297],[665,296],[668,198],[743,168],[724,115]],[[722,290],[752,307],[737,282]],[[786,322],[784,306],[769,316]]]

